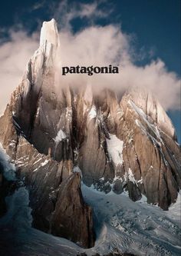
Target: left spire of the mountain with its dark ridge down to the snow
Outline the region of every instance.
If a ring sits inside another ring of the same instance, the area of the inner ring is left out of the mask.
[[[69,129],[70,121],[65,118],[68,106],[66,102],[65,107],[64,98],[58,101],[54,93],[58,45],[56,23],[44,22],[40,47],[0,118],[0,141],[15,162],[18,178],[28,188],[34,227],[89,248],[94,246],[91,208],[84,204],[79,174],[73,173],[69,135],[61,131],[61,125]],[[60,201],[62,197],[64,202]],[[64,212],[66,200],[72,208]],[[67,223],[62,222],[62,216]]]

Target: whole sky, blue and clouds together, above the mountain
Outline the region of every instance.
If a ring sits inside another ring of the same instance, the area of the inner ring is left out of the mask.
[[[155,93],[180,138],[180,1],[6,1],[0,9],[0,113],[38,48],[42,22],[58,22],[62,62],[122,65],[118,87],[143,84]],[[99,50],[97,50],[97,48]],[[75,54],[76,52],[76,54]],[[110,64],[109,63],[109,64]],[[104,83],[100,80],[99,83]],[[110,82],[107,79],[107,84]]]

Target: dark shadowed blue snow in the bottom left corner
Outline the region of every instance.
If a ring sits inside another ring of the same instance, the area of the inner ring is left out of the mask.
[[[31,228],[28,191],[19,188],[7,198],[8,213],[0,218],[0,255],[6,256],[69,256],[82,251],[64,238]]]

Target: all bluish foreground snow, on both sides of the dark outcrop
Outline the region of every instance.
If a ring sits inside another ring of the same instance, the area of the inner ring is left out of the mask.
[[[0,150],[5,170],[15,171],[5,151]],[[74,170],[80,171],[80,170]],[[66,256],[86,252],[107,254],[117,248],[137,256],[179,256],[181,254],[180,194],[169,211],[133,202],[126,193],[105,194],[81,185],[84,201],[94,209],[97,240],[94,248],[84,249],[64,238],[31,228],[28,191],[18,188],[6,198],[8,212],[0,218],[0,254],[2,256]],[[145,199],[145,198],[144,198]]]

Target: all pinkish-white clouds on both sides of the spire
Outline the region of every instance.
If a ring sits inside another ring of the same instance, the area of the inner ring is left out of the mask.
[[[93,85],[94,89],[108,87],[123,91],[131,86],[148,88],[159,99],[163,107],[179,109],[180,79],[174,72],[169,72],[159,58],[151,60],[147,65],[135,65],[135,58],[140,53],[133,48],[133,38],[122,32],[118,25],[88,25],[79,32],[72,32],[71,21],[76,17],[94,20],[98,15],[105,14],[99,10],[100,2],[92,4],[75,3],[67,7],[63,1],[56,15],[61,15],[60,40],[61,52],[58,63],[60,84]],[[60,25],[60,24],[59,24]],[[12,91],[21,82],[28,59],[38,48],[38,33],[27,35],[23,31],[9,32],[10,40],[0,42],[0,113],[4,111]],[[145,48],[140,52],[145,52]],[[153,52],[148,52],[150,57]],[[119,65],[120,73],[97,75],[61,75],[63,66],[102,66]]]

